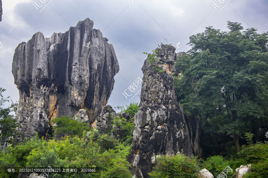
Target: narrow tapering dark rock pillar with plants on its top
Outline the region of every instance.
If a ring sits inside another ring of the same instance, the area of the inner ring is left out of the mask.
[[[196,131],[193,133],[194,128],[190,128],[190,123],[198,123],[189,122],[182,107],[177,104],[172,76],[176,61],[175,48],[162,45],[157,59],[159,61],[152,64],[149,63],[149,58],[144,61],[141,102],[134,117],[135,129],[128,161],[133,167],[133,174],[138,178],[149,177],[147,173],[152,171],[155,158],[159,156],[192,156],[192,139],[199,137],[194,136]],[[163,69],[164,73],[158,72],[155,66]],[[199,144],[196,143],[195,146],[198,147]],[[198,149],[201,150],[200,147]],[[195,152],[200,152],[199,150]]]

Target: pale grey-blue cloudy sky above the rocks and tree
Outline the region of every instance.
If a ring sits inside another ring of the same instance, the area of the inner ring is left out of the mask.
[[[38,7],[41,1],[49,4]],[[186,52],[189,36],[208,26],[227,31],[228,20],[241,23],[244,29],[257,28],[258,33],[268,31],[267,0],[2,0],[2,4],[0,87],[7,89],[4,96],[13,101],[19,100],[11,73],[18,44],[39,31],[45,37],[64,33],[86,18],[113,44],[119,61],[120,71],[108,101],[112,107],[140,102],[140,92],[132,100],[122,93],[138,77],[142,79],[147,57],[143,52],[152,52],[161,42],[174,47],[180,42],[176,52]]]

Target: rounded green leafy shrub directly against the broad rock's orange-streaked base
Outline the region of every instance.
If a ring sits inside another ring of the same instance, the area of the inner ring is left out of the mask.
[[[53,127],[54,135],[68,134],[71,137],[82,137],[83,131],[90,131],[87,123],[82,123],[81,120],[72,119],[71,116],[60,116],[52,120],[56,126]]]

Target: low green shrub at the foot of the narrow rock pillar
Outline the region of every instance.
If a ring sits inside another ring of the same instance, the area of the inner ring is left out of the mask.
[[[197,178],[200,171],[197,157],[189,158],[183,155],[156,158],[154,170],[149,173],[150,178]]]

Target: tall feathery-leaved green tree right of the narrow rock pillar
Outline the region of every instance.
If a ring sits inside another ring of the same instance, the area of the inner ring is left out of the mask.
[[[175,77],[177,99],[186,115],[196,115],[219,125],[240,151],[239,137],[267,124],[267,33],[245,31],[228,21],[230,31],[207,27],[190,36],[191,50],[177,60],[182,76]]]

